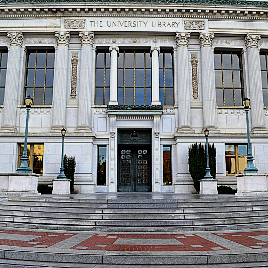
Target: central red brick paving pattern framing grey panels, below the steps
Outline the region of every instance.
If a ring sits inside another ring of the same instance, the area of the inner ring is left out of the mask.
[[[127,244],[114,244],[119,238],[129,239]],[[133,245],[131,239],[159,239],[159,245],[150,241],[146,245]],[[175,239],[183,245],[166,245],[162,239]],[[122,235],[94,235],[71,249],[81,250],[113,250],[113,251],[211,251],[229,250],[195,234],[122,234]]]

